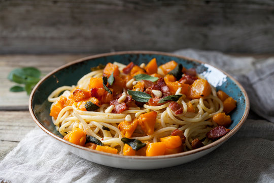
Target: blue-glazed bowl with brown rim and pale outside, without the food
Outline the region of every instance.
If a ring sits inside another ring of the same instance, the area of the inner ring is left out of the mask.
[[[140,65],[148,63],[152,58],[157,59],[158,65],[175,60],[187,69],[195,68],[197,73],[205,77],[217,90],[221,89],[237,101],[237,107],[231,113],[232,124],[228,134],[203,147],[185,151],[179,154],[156,157],[122,156],[92,150],[83,146],[70,143],[62,139],[62,135],[55,129],[50,113],[51,103],[48,96],[57,87],[63,85],[76,85],[77,81],[90,72],[91,67],[98,64],[106,65],[111,62],[119,62],[127,65],[130,62]],[[243,125],[249,112],[249,99],[244,88],[226,72],[217,69],[199,60],[178,56],[175,54],[155,51],[123,51],[98,54],[78,59],[75,62],[59,67],[46,75],[33,88],[29,99],[29,111],[35,123],[63,148],[71,151],[86,160],[124,169],[157,169],[180,165],[207,155],[232,135]]]

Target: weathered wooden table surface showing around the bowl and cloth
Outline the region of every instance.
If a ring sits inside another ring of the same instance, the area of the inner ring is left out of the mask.
[[[32,66],[45,75],[59,66],[85,56],[88,55],[0,55],[0,161],[36,127],[28,111],[29,96],[25,92],[9,92],[9,88],[15,85],[7,79],[9,72],[15,68]],[[259,59],[273,55],[237,56],[254,56]]]

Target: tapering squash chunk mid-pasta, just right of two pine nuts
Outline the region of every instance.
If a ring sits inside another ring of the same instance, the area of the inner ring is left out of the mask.
[[[145,114],[141,114],[140,117],[138,118],[139,125],[141,126],[142,130],[147,135],[152,135],[154,133],[156,117],[157,117],[157,112],[152,111]]]

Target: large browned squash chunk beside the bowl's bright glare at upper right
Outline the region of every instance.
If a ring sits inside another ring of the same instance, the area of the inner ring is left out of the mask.
[[[199,99],[207,97],[211,94],[211,87],[207,80],[196,79],[190,86],[188,97],[191,99]]]

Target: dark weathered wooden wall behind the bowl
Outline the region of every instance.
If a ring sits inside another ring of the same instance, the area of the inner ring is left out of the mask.
[[[0,53],[273,53],[273,40],[271,0],[0,0]]]

